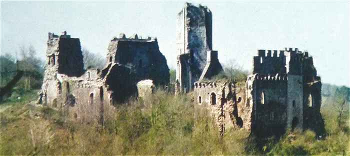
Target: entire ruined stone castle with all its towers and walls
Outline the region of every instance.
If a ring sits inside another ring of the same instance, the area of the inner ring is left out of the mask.
[[[324,128],[320,114],[321,81],[308,52],[298,48],[257,50],[245,81],[210,80],[223,71],[212,50],[212,13],[186,3],[177,14],[175,93],[192,91],[195,105],[210,110],[221,134],[245,128],[258,136],[287,129]],[[156,38],[113,37],[103,69],[83,68],[80,41],[64,32],[48,33],[44,80],[38,103],[64,110],[80,120],[103,122],[133,95],[149,95],[169,82],[165,57]],[[188,94],[186,94],[188,95]]]

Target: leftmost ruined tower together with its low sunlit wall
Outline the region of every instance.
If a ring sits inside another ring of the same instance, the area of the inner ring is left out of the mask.
[[[78,38],[48,33],[46,65],[38,103],[60,110],[68,118],[103,123],[104,107],[111,105],[99,69],[83,70]],[[108,109],[113,109],[108,107]]]

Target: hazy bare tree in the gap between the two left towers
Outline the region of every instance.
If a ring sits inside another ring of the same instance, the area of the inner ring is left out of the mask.
[[[83,63],[85,69],[88,68],[99,68],[102,69],[105,64],[105,58],[99,54],[92,53],[86,48],[81,49],[83,56]]]

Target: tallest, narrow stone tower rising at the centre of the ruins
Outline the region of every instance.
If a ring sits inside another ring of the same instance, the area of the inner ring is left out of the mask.
[[[203,72],[207,51],[212,50],[211,24],[211,11],[200,4],[195,6],[186,2],[177,14],[176,50],[179,55],[176,80],[181,91],[193,88],[193,83]]]

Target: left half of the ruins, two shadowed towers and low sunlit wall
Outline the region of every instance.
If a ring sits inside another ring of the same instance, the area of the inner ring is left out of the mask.
[[[66,32],[60,36],[49,33],[37,102],[72,119],[103,123],[105,112],[114,111],[115,104],[137,94],[139,80],[168,83],[169,69],[156,39],[121,34],[121,38],[113,38],[108,49],[108,62],[102,70],[83,70],[79,39]]]

